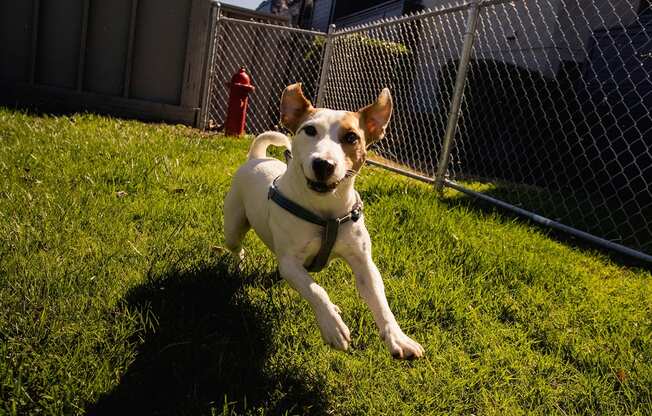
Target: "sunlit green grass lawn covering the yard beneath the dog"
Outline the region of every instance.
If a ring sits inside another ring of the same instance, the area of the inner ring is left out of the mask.
[[[374,258],[427,358],[392,360],[346,265],[352,348],[252,233],[222,249],[247,140],[0,109],[0,414],[652,413],[648,271],[365,168]]]

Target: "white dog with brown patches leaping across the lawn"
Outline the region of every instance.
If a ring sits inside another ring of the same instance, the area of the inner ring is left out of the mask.
[[[340,309],[310,276],[306,265],[320,251],[323,228],[305,221],[269,199],[274,182],[287,199],[321,218],[337,218],[351,212],[358,203],[353,189],[355,174],[365,162],[366,148],[382,139],[392,114],[392,97],[387,88],[376,102],[358,112],[314,108],[301,84],[288,86],[281,97],[281,122],[294,137],[267,132],[251,145],[249,160],[233,177],[224,202],[226,245],[242,259],[242,240],[253,227],[276,255],[281,276],[310,304],[324,341],[346,350],[351,341]],[[292,150],[285,163],[267,157],[272,144]],[[356,279],[360,296],[368,304],[395,358],[423,356],[424,349],[399,327],[385,297],[382,278],[371,258],[371,240],[364,219],[348,221],[339,232],[330,258],[346,261]]]

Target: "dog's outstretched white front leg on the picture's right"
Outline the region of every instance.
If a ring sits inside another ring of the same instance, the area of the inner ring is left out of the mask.
[[[371,243],[363,245],[369,248]],[[360,296],[371,309],[381,338],[394,358],[413,359],[422,357],[423,347],[407,335],[396,322],[385,297],[385,285],[378,268],[366,250],[345,256],[355,275],[355,284]]]

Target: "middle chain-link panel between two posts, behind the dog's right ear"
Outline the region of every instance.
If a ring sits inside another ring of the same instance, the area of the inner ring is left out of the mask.
[[[459,8],[335,33],[320,105],[357,110],[388,87],[394,113],[374,157],[433,176],[465,26]]]

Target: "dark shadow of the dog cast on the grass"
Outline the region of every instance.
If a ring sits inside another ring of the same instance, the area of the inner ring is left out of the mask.
[[[147,311],[157,323],[140,334],[144,342],[120,384],[88,414],[222,414],[225,403],[228,414],[260,407],[266,414],[325,414],[315,380],[308,384],[292,369],[265,370],[273,320],[245,295],[252,276],[232,270],[221,260],[131,290],[127,310]]]

